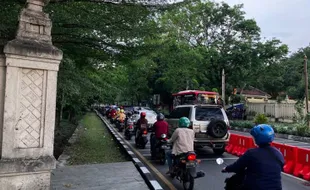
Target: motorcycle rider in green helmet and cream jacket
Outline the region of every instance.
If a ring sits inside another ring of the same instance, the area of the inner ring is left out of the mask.
[[[187,117],[181,117],[179,119],[179,127],[173,132],[168,143],[173,143],[172,151],[166,152],[166,159],[169,166],[169,171],[167,174],[173,172],[172,163],[173,157],[181,155],[183,153],[188,153],[194,151],[194,140],[195,132],[188,127],[190,126],[190,121]]]

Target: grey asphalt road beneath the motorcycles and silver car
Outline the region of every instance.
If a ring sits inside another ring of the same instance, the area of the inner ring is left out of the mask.
[[[158,177],[158,180],[161,182],[161,185],[165,189],[172,189],[171,185],[174,186],[175,189],[178,189],[178,190],[183,189],[182,184],[178,180],[171,179],[168,175],[165,174],[168,170],[167,164],[160,165],[158,162],[151,160],[150,143],[148,142],[145,149],[136,149],[133,139],[134,138],[132,138],[132,140],[127,141],[127,142],[130,143],[131,146],[136,151],[138,151],[140,155],[142,155],[145,158],[145,162],[147,162],[145,164],[148,165],[148,168],[150,171],[154,173],[157,173],[157,172],[160,173],[159,175],[157,175],[157,177]],[[199,149],[196,151],[196,153],[198,154],[198,159],[201,160],[201,163],[198,166],[197,171],[203,170],[206,173],[206,175],[203,178],[195,179],[195,190],[224,189],[225,178],[231,176],[232,174],[221,173],[221,169],[223,168],[223,165],[219,166],[216,164],[215,160],[217,157],[213,154],[211,149],[208,149],[208,148]],[[231,164],[235,160],[238,159],[238,157],[235,157],[233,155],[226,154],[226,153],[223,154],[221,158],[223,158],[225,160],[225,163],[227,164]],[[155,171],[154,171],[154,168],[155,168]],[[165,178],[165,180],[169,182],[164,183],[163,178]],[[283,185],[283,190],[309,190],[310,189],[309,182],[305,182],[303,180],[296,179],[294,177],[287,176],[285,174],[282,175],[282,185]]]

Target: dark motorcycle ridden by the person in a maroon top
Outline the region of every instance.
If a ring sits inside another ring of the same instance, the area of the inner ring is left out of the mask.
[[[151,134],[151,139],[154,138],[155,133]],[[159,160],[159,163],[165,165],[166,163],[166,151],[170,149],[168,145],[168,138],[166,134],[161,135],[161,139],[154,144],[154,151],[151,149],[152,158]]]

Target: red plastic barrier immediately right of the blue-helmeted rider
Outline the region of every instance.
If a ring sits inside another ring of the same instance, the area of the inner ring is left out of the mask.
[[[283,154],[285,165],[283,171],[288,174],[293,174],[296,165],[297,147],[273,142],[272,146],[276,147]]]

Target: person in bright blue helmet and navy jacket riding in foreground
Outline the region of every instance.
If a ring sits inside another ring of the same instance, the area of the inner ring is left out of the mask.
[[[260,124],[252,128],[250,134],[258,148],[247,150],[222,171],[245,171],[242,190],[282,190],[281,171],[285,161],[282,153],[270,145],[275,137],[274,130],[270,125]]]

